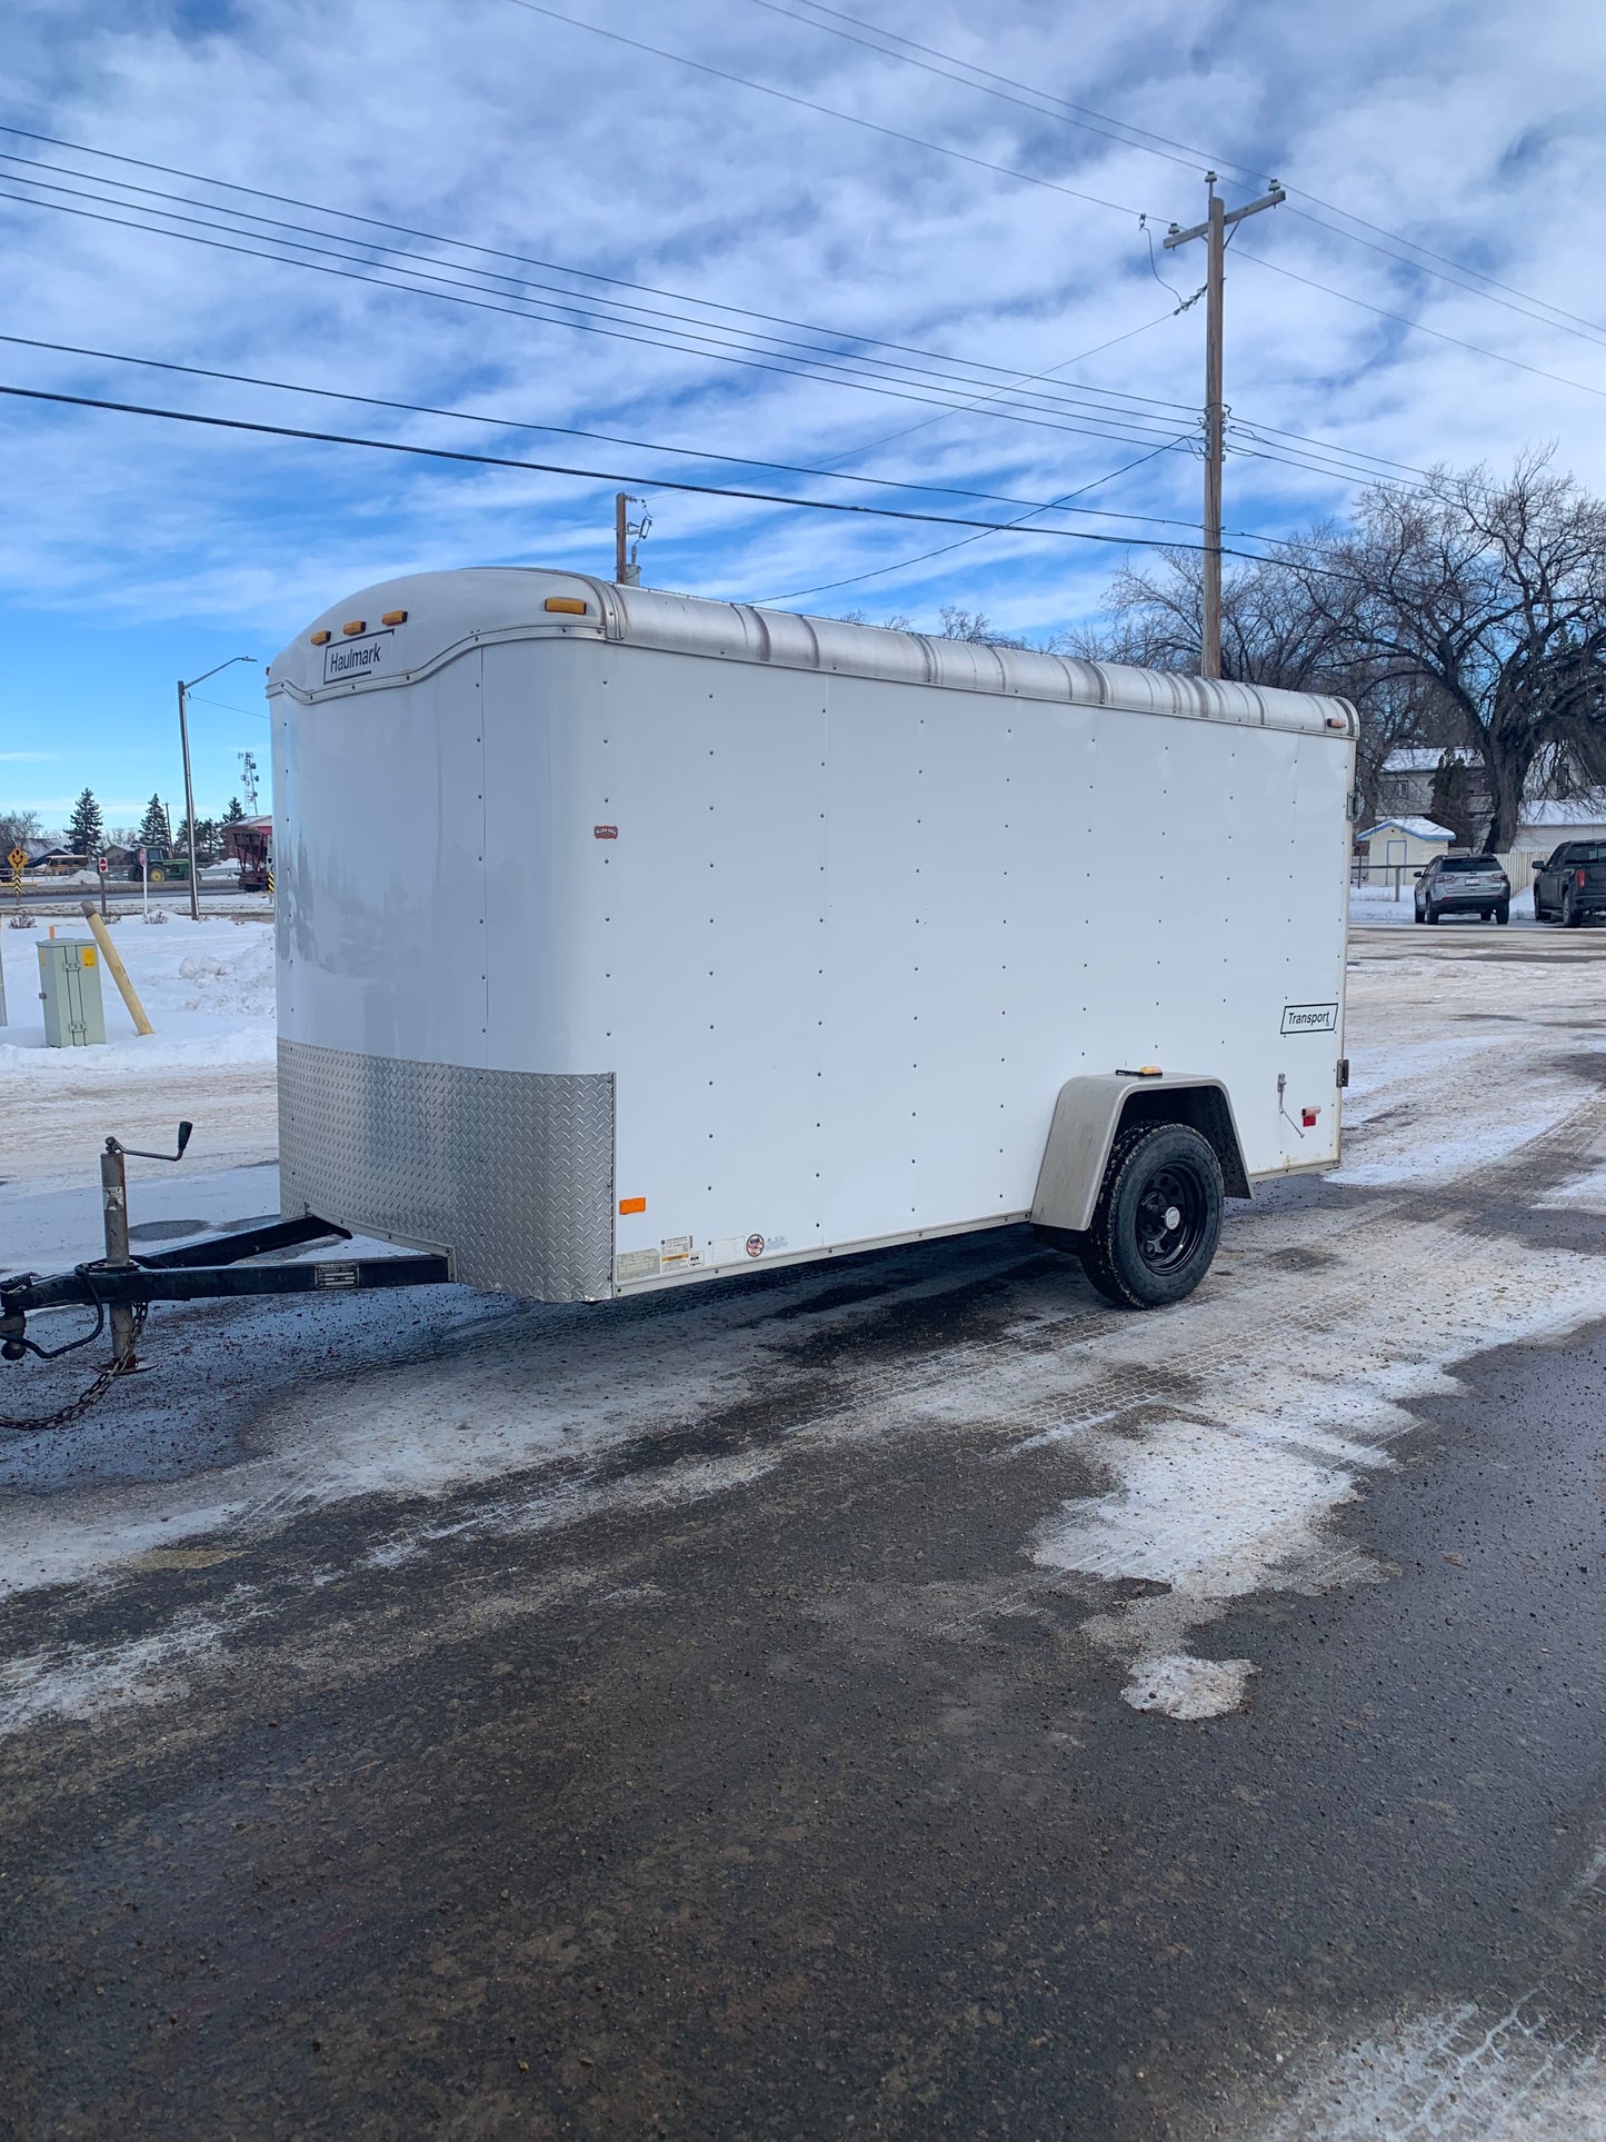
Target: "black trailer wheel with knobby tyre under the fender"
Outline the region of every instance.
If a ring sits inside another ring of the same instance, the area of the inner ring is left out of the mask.
[[[1120,1131],[1081,1236],[1081,1266],[1118,1309],[1165,1309],[1193,1294],[1221,1240],[1221,1161],[1186,1122]]]

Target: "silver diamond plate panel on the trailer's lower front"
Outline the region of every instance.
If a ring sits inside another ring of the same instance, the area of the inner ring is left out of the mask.
[[[278,1043],[281,1208],[450,1249],[467,1285],[612,1294],[612,1077]]]

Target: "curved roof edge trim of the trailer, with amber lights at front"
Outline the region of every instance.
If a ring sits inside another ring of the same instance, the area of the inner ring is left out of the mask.
[[[585,604],[585,613],[576,604]],[[405,623],[388,632],[383,660],[325,683],[325,658],[321,647],[313,653],[313,645],[319,645],[317,634],[336,619],[336,630],[345,636],[353,608],[360,617],[403,613]],[[709,602],[655,587],[615,587],[612,580],[589,574],[525,565],[411,574],[347,595],[315,621],[313,634],[302,632],[276,655],[268,690],[287,690],[298,698],[321,698],[325,692],[345,698],[420,677],[475,643],[507,638],[612,640],[724,662],[940,685],[994,698],[1293,728],[1334,739],[1349,739],[1358,730],[1355,711],[1343,698],[1212,683],[1173,670],[1081,662],[1075,655],[944,640],[923,632],[889,632],[884,625],[799,617],[747,602]]]

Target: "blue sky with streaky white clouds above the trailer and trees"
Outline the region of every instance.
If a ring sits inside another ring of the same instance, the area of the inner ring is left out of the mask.
[[[1229,255],[1229,529],[1276,536],[1340,512],[1373,465],[1360,456],[1409,476],[1557,441],[1563,465],[1606,486],[1606,330],[1591,326],[1597,278],[1578,238],[1606,178],[1593,6],[994,0],[979,15],[850,0],[844,15],[816,0],[563,0],[557,13],[786,96],[520,0],[21,0],[9,19],[0,122],[26,133],[0,135],[0,328],[501,428],[15,343],[0,343],[0,381],[638,473],[653,585],[919,623],[961,604],[1045,634],[1096,615],[1122,557],[1141,553],[1015,533],[904,563],[966,531],[677,495],[664,480],[807,486],[698,458],[756,456],[949,486],[814,480],[824,497],[1000,518],[1024,508],[959,493],[1039,503],[1092,486],[1081,506],[1131,518],[1058,525],[1186,540],[1203,321],[1173,306],[1201,261],[1150,251],[1139,214],[1161,231],[1195,221],[1214,161],[1229,201],[1263,174],[1296,188]],[[897,36],[1030,90],[983,94],[974,73],[916,69]],[[1435,278],[1379,231],[1503,289]],[[300,263],[255,257],[291,242]],[[233,653],[266,662],[366,580],[612,561],[612,482],[26,401],[0,401],[0,805],[51,825],[86,782],[111,823],[152,790],[176,799],[176,677]],[[201,694],[197,799],[221,810],[236,754],[266,745],[259,670],[236,666]]]

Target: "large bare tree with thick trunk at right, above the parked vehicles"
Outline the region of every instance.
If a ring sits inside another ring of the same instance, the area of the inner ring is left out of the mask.
[[[1360,660],[1454,709],[1488,780],[1486,848],[1510,848],[1535,767],[1563,788],[1606,778],[1606,501],[1548,452],[1503,482],[1368,491],[1291,570]]]

